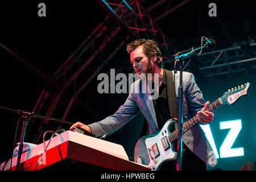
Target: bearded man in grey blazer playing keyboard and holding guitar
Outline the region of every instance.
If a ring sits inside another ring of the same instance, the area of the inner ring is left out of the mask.
[[[176,105],[176,103],[170,103],[168,98],[170,93],[174,92],[170,89],[170,82],[175,81],[175,94],[177,96],[179,72],[174,74],[173,71],[163,69],[162,55],[157,44],[152,40],[135,40],[127,46],[127,52],[130,53],[131,64],[133,64],[138,76],[152,73],[152,77],[147,77],[147,79],[151,79],[151,81],[159,79],[159,85],[157,85],[159,97],[149,100],[145,97],[147,94],[131,91],[125,104],[120,106],[113,115],[90,125],[77,122],[71,126],[71,129],[80,126],[97,136],[112,133],[141,111],[148,124],[147,134],[155,134],[171,118],[170,106]],[[153,73],[157,73],[157,77]],[[131,90],[138,88],[141,80],[142,78],[135,81],[131,85]],[[197,114],[201,124],[210,123],[213,120],[213,113],[204,111],[209,105],[209,101],[205,103],[203,94],[197,87],[195,78],[191,73],[183,72],[183,88],[183,121],[185,122]],[[209,152],[212,151],[212,148],[210,148],[201,127],[196,125],[184,133],[183,143],[185,152],[182,169],[206,170],[206,163],[209,163]]]

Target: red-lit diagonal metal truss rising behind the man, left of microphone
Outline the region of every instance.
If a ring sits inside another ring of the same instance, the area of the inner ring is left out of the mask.
[[[93,117],[100,117],[100,111],[92,109],[82,102],[79,95],[97,77],[98,73],[104,71],[104,67],[108,65],[110,60],[113,60],[114,56],[118,55],[118,52],[121,48],[123,49],[128,41],[138,38],[153,39],[158,43],[163,59],[170,59],[174,46],[156,22],[188,2],[189,0],[182,2],[167,0],[98,0],[108,16],[98,24],[92,34],[80,44],[51,77],[43,73],[39,74],[40,77],[46,80],[46,86],[32,111],[35,114],[47,117],[53,117],[56,111],[59,111],[63,114],[61,119],[66,119],[76,102]],[[14,55],[13,52],[10,53]],[[28,64],[21,57],[17,58],[22,63]],[[115,67],[122,70],[122,68],[126,69],[127,64],[115,65]],[[34,67],[31,67],[31,69],[36,73],[41,73]],[[26,133],[28,138],[26,140],[32,143],[40,143],[48,125],[51,128],[55,128],[55,126],[53,122],[35,122],[35,120],[32,118],[27,122]],[[59,129],[61,125],[57,127]]]

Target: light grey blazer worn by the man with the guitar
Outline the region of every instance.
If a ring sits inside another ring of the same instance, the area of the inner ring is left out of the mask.
[[[170,72],[166,70],[166,72]],[[172,71],[174,75],[174,71]],[[180,74],[175,74],[175,92],[178,95]],[[140,111],[148,122],[148,134],[155,134],[160,129],[156,121],[155,109],[152,100],[148,100],[148,94],[141,92],[134,92],[135,88],[139,87],[142,79],[139,79],[131,84],[131,90],[125,103],[109,117],[102,121],[94,122],[90,125],[93,134],[97,136],[112,133],[125,125],[131,118],[137,115]],[[205,101],[203,94],[195,82],[195,77],[192,73],[183,72],[183,121],[188,121],[197,111],[203,109]],[[200,159],[210,166],[215,166],[210,160],[216,160],[213,155],[207,138],[205,138],[204,131],[197,124],[183,134],[183,142],[185,145]],[[214,158],[214,159],[213,159]]]

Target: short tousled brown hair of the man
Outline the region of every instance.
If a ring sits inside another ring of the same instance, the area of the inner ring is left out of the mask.
[[[148,58],[156,55],[156,63],[160,68],[163,67],[163,58],[160,52],[160,49],[154,40],[150,39],[138,39],[134,40],[130,44],[127,45],[126,50],[128,53],[133,51],[135,48],[142,46],[143,52],[147,55]]]

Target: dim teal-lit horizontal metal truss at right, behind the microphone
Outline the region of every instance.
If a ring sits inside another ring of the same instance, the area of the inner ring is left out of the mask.
[[[185,70],[197,77],[216,77],[256,68],[256,44],[230,47],[191,56]]]

